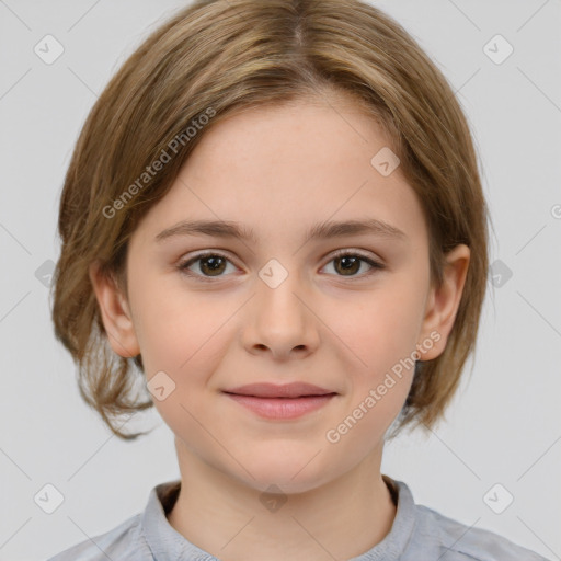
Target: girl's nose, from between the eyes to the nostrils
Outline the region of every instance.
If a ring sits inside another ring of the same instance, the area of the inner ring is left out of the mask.
[[[245,310],[243,345],[251,354],[270,354],[276,360],[304,358],[319,345],[319,323],[297,275],[289,274],[275,288],[260,279]]]

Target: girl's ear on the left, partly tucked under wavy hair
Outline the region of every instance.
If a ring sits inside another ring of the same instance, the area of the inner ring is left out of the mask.
[[[125,296],[114,279],[100,271],[98,262],[90,264],[89,275],[111,347],[123,357],[137,356],[140,348]]]

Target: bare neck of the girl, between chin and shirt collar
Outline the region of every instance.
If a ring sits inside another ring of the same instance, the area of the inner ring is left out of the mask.
[[[222,561],[351,559],[390,531],[396,505],[381,454],[305,492],[263,493],[178,448],[181,490],[168,520]],[[381,450],[380,450],[381,453]]]

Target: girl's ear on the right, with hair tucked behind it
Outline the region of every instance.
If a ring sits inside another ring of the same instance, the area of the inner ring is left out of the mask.
[[[446,348],[463,291],[470,254],[469,248],[462,243],[446,254],[442,286],[432,287],[426,300],[421,340],[417,344],[421,360],[436,358]],[[431,348],[423,345],[426,340],[433,341]]]

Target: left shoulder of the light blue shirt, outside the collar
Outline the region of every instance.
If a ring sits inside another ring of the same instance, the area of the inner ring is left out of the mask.
[[[152,554],[141,530],[141,516],[131,516],[112,530],[76,543],[47,561],[151,561]]]

